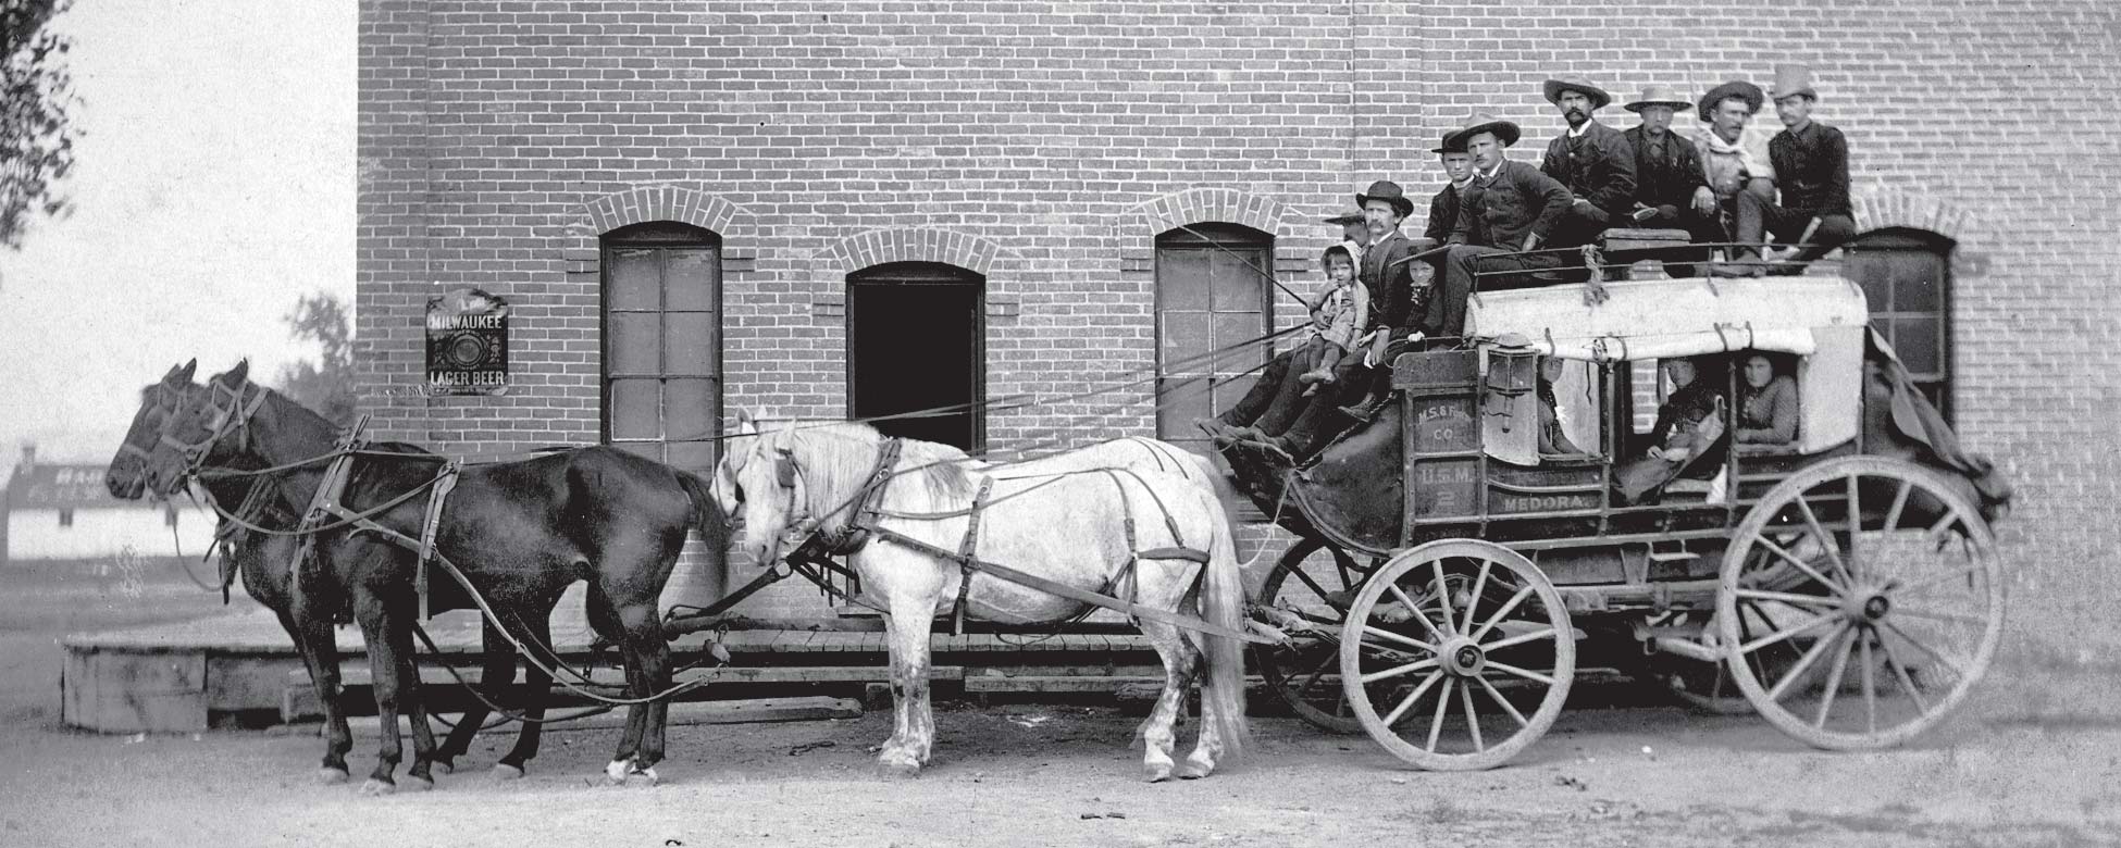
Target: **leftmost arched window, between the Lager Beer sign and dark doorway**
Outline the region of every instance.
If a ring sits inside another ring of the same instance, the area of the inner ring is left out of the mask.
[[[655,220],[604,233],[604,443],[706,471],[721,428],[721,237]]]

